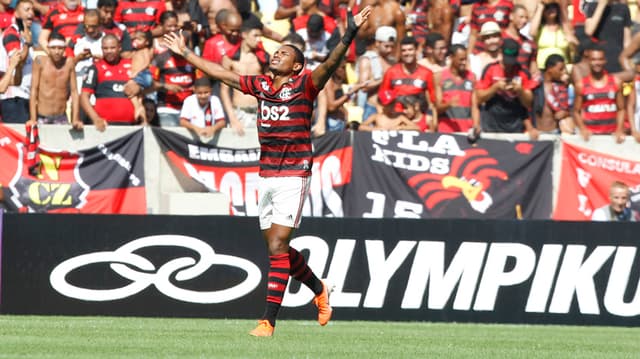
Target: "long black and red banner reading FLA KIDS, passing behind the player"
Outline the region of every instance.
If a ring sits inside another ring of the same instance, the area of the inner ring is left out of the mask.
[[[154,129],[171,164],[257,215],[259,149],[228,149]],[[551,142],[418,132],[342,132],[314,140],[304,215],[364,218],[523,218],[551,215]]]

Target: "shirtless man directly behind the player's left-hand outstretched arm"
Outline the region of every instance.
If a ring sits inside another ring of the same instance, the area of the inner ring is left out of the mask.
[[[231,57],[223,58],[223,66],[240,75],[262,75],[268,66],[268,58],[260,57],[258,44],[262,32],[260,23],[248,21],[242,24],[242,43],[240,50]],[[239,90],[231,89],[228,85],[220,84],[220,98],[225,113],[229,117],[229,124],[239,135],[244,134],[244,128],[255,127],[258,116],[258,100],[245,95]]]

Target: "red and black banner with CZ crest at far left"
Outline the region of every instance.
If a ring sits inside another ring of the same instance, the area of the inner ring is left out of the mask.
[[[143,143],[139,130],[77,152],[52,150],[0,125],[3,206],[18,212],[145,214]]]

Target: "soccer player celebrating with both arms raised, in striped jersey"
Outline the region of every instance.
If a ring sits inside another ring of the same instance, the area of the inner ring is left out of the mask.
[[[260,141],[260,185],[258,187],[260,229],[269,252],[266,308],[258,326],[249,334],[272,336],[289,276],[304,283],[315,294],[318,322],[331,319],[329,288],[307,266],[304,257],[289,246],[300,215],[312,167],[311,114],[313,101],[340,66],[360,26],[371,12],[366,6],[348,25],[339,44],[313,72],[303,72],[304,54],[283,45],[273,54],[271,75],[241,76],[207,61],[189,50],[182,34],[166,34],[167,47],[207,75],[258,98]]]

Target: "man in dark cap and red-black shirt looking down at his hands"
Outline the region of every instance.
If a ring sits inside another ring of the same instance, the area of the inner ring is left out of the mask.
[[[518,63],[518,43],[504,39],[502,60],[484,69],[476,85],[476,96],[480,108],[480,122],[484,132],[522,133],[529,132],[532,139],[538,138],[538,130],[529,118],[536,84],[529,73]]]

